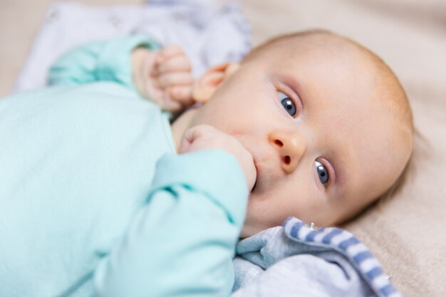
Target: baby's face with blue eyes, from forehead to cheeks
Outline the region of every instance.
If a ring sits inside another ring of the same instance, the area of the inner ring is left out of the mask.
[[[242,63],[195,118],[237,137],[257,170],[242,236],[289,216],[336,224],[385,192],[410,145],[361,53],[276,46]],[[230,185],[229,185],[230,187]]]

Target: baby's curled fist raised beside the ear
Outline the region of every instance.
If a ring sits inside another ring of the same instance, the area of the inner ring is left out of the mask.
[[[175,113],[194,103],[190,61],[179,46],[166,46],[160,51],[136,48],[132,66],[138,93],[161,108]]]

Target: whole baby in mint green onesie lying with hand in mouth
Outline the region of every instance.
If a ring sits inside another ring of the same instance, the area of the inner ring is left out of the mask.
[[[228,296],[239,237],[345,222],[412,153],[398,79],[326,31],[195,82],[180,48],[92,43],[49,80],[0,100],[0,296]]]

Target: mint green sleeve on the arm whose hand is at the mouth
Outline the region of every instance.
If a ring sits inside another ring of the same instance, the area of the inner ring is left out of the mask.
[[[248,194],[227,152],[165,155],[147,201],[95,271],[95,296],[229,296]]]

